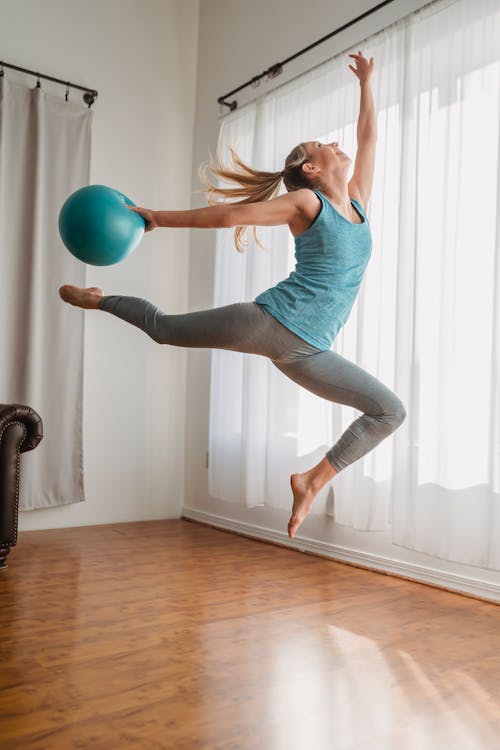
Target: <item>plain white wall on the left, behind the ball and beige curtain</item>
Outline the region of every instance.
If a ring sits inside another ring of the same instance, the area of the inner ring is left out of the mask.
[[[98,90],[91,183],[138,205],[189,208],[198,0],[0,0],[0,18],[3,60]],[[87,283],[183,312],[188,251],[187,231],[152,232],[120,265],[89,267]],[[21,513],[21,530],[180,515],[186,352],[105,313],[85,315],[87,499]]]

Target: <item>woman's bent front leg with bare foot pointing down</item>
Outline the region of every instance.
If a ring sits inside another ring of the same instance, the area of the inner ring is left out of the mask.
[[[288,361],[273,360],[273,364],[317,396],[363,412],[319,464],[303,474],[292,474],[294,505],[288,533],[293,537],[326,482],[393,433],[406,411],[398,396],[380,380],[332,350]]]

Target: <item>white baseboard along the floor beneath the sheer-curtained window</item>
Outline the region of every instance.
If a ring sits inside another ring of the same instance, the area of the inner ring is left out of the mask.
[[[444,589],[454,594],[471,596],[481,601],[491,604],[500,604],[500,586],[488,581],[471,576],[461,576],[456,573],[444,573],[442,570],[436,570],[430,566],[415,565],[403,560],[395,560],[380,555],[360,552],[359,550],[341,547],[336,544],[327,544],[318,542],[314,539],[301,537],[297,541],[289,539],[283,532],[268,529],[264,526],[245,523],[244,521],[234,521],[224,516],[218,516],[215,513],[207,513],[195,508],[186,508],[182,510],[182,518],[191,521],[197,521],[207,526],[213,526],[217,529],[231,531],[240,536],[246,536],[250,539],[258,539],[261,542],[269,542],[280,547],[289,547],[299,552],[306,552],[320,557],[327,557],[337,562],[354,565],[357,568],[364,568],[375,573],[393,575],[398,578],[404,578],[407,581],[423,583],[435,588]]]

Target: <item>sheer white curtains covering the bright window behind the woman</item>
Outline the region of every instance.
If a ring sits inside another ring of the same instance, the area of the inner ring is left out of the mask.
[[[408,417],[325,487],[313,513],[395,544],[500,569],[500,6],[437,2],[356,45],[373,56],[373,253],[333,349],[382,380]],[[229,144],[281,169],[300,141],[353,158],[359,86],[347,50],[225,118]],[[293,269],[286,227],[247,254],[217,233],[214,305],[251,301]],[[357,417],[263,357],[212,353],[209,491],[290,508],[289,474],[320,460]]]

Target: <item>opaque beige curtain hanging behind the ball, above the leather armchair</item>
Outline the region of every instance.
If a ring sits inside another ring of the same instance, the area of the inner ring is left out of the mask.
[[[31,406],[44,438],[23,455],[20,507],[84,500],[83,311],[58,296],[83,285],[59,210],[89,181],[93,112],[0,78],[0,401]]]

